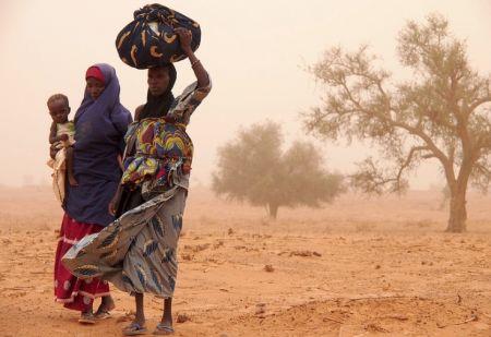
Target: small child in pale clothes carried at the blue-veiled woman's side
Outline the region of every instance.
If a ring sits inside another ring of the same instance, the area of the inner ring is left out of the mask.
[[[56,197],[63,203],[64,183],[68,178],[70,185],[76,185],[73,174],[73,147],[75,143],[75,125],[69,121],[70,105],[68,97],[56,94],[48,99],[49,115],[52,118],[49,131],[49,155],[48,166],[52,168],[52,186]]]

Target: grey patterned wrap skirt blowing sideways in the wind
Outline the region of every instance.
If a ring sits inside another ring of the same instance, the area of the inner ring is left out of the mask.
[[[176,186],[124,213],[73,245],[63,265],[80,279],[98,277],[127,292],[172,297],[185,197]]]

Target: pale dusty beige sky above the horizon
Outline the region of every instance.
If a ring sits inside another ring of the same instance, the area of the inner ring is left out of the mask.
[[[121,101],[131,111],[144,103],[146,73],[123,64],[115,38],[147,1],[0,0],[0,184],[48,183],[46,99],[61,92],[74,112],[83,97],[84,72],[93,63],[112,64]],[[216,149],[241,127],[271,119],[286,140],[308,139],[299,113],[319,103],[320,87],[302,69],[333,45],[368,43],[396,74],[397,32],[407,20],[438,11],[467,38],[471,63],[491,72],[491,0],[307,0],[166,1],[196,20],[203,31],[197,57],[214,89],[193,116],[192,179],[207,183]],[[188,61],[178,63],[178,94],[193,80]],[[348,172],[364,157],[362,145],[322,144],[327,167]],[[422,167],[412,188],[440,183],[435,166]]]

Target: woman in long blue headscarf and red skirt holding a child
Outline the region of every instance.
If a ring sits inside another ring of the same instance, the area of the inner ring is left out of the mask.
[[[131,113],[119,100],[120,86],[109,64],[88,68],[82,105],[75,113],[73,171],[77,185],[67,184],[64,216],[55,260],[55,297],[65,308],[81,311],[81,323],[109,315],[115,304],[109,286],[98,278],[82,280],[61,264],[61,257],[84,237],[115,220],[108,205],[121,179],[119,158]],[[101,303],[93,313],[93,302]]]

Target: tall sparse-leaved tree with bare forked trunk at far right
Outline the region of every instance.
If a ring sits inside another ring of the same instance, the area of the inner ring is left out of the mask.
[[[399,33],[398,56],[412,80],[394,83],[369,53],[336,47],[310,68],[326,87],[322,107],[306,113],[318,136],[375,145],[351,176],[368,193],[400,192],[423,160],[440,163],[450,189],[447,231],[466,230],[469,182],[487,191],[491,173],[490,76],[469,65],[466,45],[438,14],[409,22]]]

